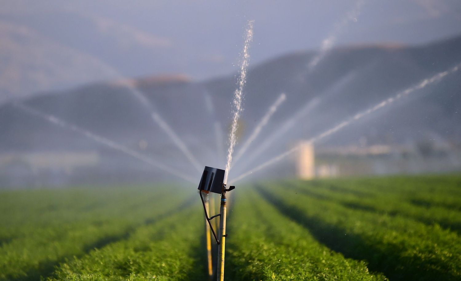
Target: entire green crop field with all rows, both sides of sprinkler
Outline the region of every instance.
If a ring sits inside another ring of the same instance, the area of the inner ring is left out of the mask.
[[[1,191],[0,280],[207,280],[195,188]],[[229,195],[226,280],[461,280],[461,176]]]

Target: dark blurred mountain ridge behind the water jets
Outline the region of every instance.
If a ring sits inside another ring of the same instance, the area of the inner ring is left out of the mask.
[[[278,131],[313,99],[319,102],[296,120],[296,127],[277,139],[264,157],[284,151],[296,140],[318,135],[357,112],[458,64],[461,36],[425,46],[338,47],[325,53],[313,71],[307,71],[307,64],[317,54],[313,51],[289,53],[249,68],[242,113],[246,129],[240,145],[281,93],[286,94],[287,100],[262,130],[258,142]],[[459,141],[460,78],[460,72],[449,75],[442,82],[353,123],[319,145],[358,144],[363,138],[368,144],[390,145],[428,138],[439,142]],[[170,124],[201,162],[222,165],[223,160],[216,159],[213,124],[218,122],[222,135],[227,135],[235,74],[199,82],[184,77],[169,82],[153,77],[135,81],[138,81],[136,90],[148,98],[152,109]],[[207,96],[212,108],[207,107]],[[169,164],[182,159],[183,169],[189,169],[182,153],[151,119],[150,109],[140,103],[130,88],[114,85],[113,81],[17,101],[135,150],[140,150],[140,141],[145,141],[148,143],[146,154],[162,155],[162,161]],[[75,132],[20,112],[11,103],[0,106],[0,120],[0,134],[4,136],[0,151],[3,152],[89,150],[95,145],[106,149]]]

